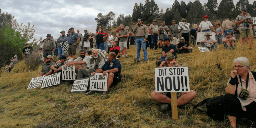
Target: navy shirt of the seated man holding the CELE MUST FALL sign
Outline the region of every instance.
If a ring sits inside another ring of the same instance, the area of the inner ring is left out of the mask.
[[[112,63],[113,63],[113,65],[112,65]],[[101,67],[101,69],[103,70],[103,71],[107,71],[107,70],[111,70],[111,69],[114,69],[114,68],[117,68],[118,69],[118,71],[117,72],[115,72],[114,73],[114,79],[116,78],[118,78],[118,81],[120,81],[121,80],[121,64],[120,64],[120,62],[118,61],[118,60],[113,60],[112,59],[112,63],[110,64],[110,61],[107,61],[102,67]],[[112,65],[112,66],[111,66]]]

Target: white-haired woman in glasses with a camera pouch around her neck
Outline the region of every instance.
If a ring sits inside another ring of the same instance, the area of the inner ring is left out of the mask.
[[[236,128],[237,118],[256,117],[256,72],[250,71],[245,57],[234,59],[234,69],[224,96],[224,112],[230,121],[230,128]]]

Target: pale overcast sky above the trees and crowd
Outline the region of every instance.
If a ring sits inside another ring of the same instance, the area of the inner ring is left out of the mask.
[[[59,37],[60,32],[67,31],[70,27],[74,27],[80,33],[84,34],[84,29],[95,33],[97,26],[94,20],[99,13],[103,15],[112,11],[116,14],[116,18],[120,14],[132,15],[132,9],[135,3],[143,3],[145,0],[0,0],[1,13],[8,12],[12,14],[14,19],[17,19],[19,24],[34,25],[36,39],[43,36],[46,38],[47,34],[52,34],[53,37]],[[174,0],[154,0],[158,5],[159,11],[163,8],[164,12],[167,6],[171,7]],[[188,4],[189,0],[183,0]],[[195,0],[191,0],[194,2]],[[208,0],[200,0],[202,4],[207,3]],[[233,0],[234,4],[238,0]],[[181,0],[178,0],[180,3]],[[218,0],[218,4],[221,0]],[[249,0],[252,4],[252,0]],[[112,21],[113,22],[113,21]],[[112,23],[111,23],[112,24]]]

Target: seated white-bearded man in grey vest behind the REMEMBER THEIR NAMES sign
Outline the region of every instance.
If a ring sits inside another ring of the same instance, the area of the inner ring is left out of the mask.
[[[89,64],[87,64],[89,70],[85,68],[79,68],[77,73],[77,79],[85,77],[90,78],[93,72],[96,72],[97,70],[101,69],[101,67],[105,64],[105,59],[99,56],[97,49],[92,50],[92,56],[93,57],[90,59]]]

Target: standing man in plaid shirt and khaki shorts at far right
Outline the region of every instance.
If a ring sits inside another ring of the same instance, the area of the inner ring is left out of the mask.
[[[248,40],[250,44],[250,49],[252,49],[253,43],[253,33],[252,33],[252,17],[247,12],[247,8],[242,8],[241,14],[236,17],[235,24],[239,24],[239,31],[240,31],[240,42],[242,46],[244,45],[245,41]]]

